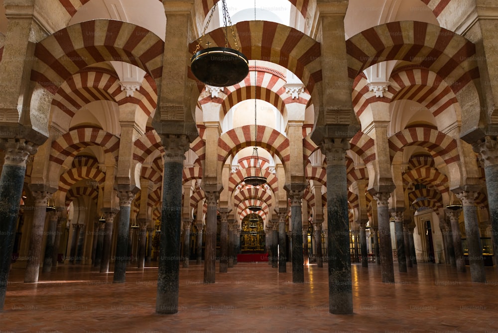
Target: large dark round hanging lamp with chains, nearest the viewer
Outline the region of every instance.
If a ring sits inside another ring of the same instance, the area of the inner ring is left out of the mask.
[[[208,28],[211,18],[213,17],[213,13],[215,12],[217,5],[217,3],[215,3],[202,32],[202,36],[199,38],[199,43],[195,48],[194,55],[190,58],[190,68],[195,77],[199,81],[214,87],[233,86],[234,84],[244,80],[249,73],[249,61],[248,58],[240,52],[239,43],[237,42],[237,38],[235,36],[234,26],[232,25],[232,21],[228,13],[227,3],[225,0],[221,0],[221,2],[223,6],[222,11],[225,47],[209,47],[211,42],[208,41],[206,43],[208,47],[199,51],[202,38],[205,36],[206,29]],[[236,49],[229,47],[227,20],[230,24],[232,38]]]

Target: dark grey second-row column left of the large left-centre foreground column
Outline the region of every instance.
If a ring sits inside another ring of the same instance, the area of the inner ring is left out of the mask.
[[[131,201],[135,193],[130,190],[118,190],[120,198],[120,220],[118,222],[118,241],[116,243],[116,261],[114,263],[113,283],[124,283],[126,281],[126,264],[130,260],[128,256],[129,238],[129,213]]]

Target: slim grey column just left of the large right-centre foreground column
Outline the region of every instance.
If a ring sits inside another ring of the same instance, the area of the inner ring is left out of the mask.
[[[304,283],[304,258],[303,258],[303,221],[301,211],[301,199],[303,198],[304,187],[301,189],[289,190],[290,198],[290,221],[292,225],[292,282]]]

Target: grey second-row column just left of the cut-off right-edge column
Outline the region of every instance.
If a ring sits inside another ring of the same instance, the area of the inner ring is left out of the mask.
[[[472,282],[486,282],[484,270],[483,245],[479,236],[475,198],[477,191],[461,191],[457,197],[462,200],[465,223],[465,236],[469,248],[469,264]]]

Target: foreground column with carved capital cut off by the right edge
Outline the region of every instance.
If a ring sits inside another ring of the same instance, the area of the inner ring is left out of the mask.
[[[486,175],[488,189],[488,205],[491,218],[491,237],[493,253],[498,258],[498,141],[497,137],[485,137],[473,145],[476,153],[480,154],[481,164]],[[498,270],[498,260],[495,269]]]

